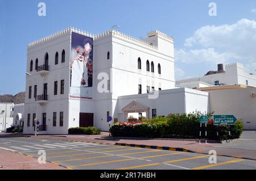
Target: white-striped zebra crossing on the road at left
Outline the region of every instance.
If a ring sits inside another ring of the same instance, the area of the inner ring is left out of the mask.
[[[100,144],[84,143],[84,142],[54,142],[47,143],[42,142],[42,144],[19,144],[13,146],[12,144],[0,145],[0,149],[14,151],[14,152],[26,152],[26,151],[36,151],[36,150],[51,150],[51,149],[72,149],[72,148],[82,148],[88,146],[97,146]]]

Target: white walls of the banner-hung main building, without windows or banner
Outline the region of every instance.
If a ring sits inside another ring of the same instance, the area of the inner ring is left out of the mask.
[[[69,96],[72,32],[93,38],[92,99]],[[61,62],[63,50],[65,50],[65,61]],[[57,65],[55,64],[56,52],[59,53]],[[45,65],[46,53],[49,56],[49,69],[36,71],[36,59],[38,58],[38,66]],[[138,66],[139,59],[141,60],[141,69]],[[147,60],[150,64],[149,71],[147,71]],[[32,70],[30,68],[31,61],[33,62]],[[152,71],[152,65],[154,65],[154,71]],[[41,126],[44,124],[41,127],[42,130],[40,129],[40,134],[67,134],[68,128],[80,126],[81,113],[93,114],[91,119],[93,119],[94,127],[108,131],[107,115],[109,114],[118,121],[124,121],[125,111],[122,112],[121,109],[127,107],[134,99],[148,107],[148,118],[151,117],[150,112],[155,108],[157,115],[196,110],[208,111],[208,93],[188,89],[170,90],[175,88],[174,42],[172,37],[159,31],[149,32],[147,39],[139,40],[114,30],[100,35],[91,35],[68,28],[28,45],[27,73],[32,76],[28,74],[26,77],[23,116],[23,133],[26,134],[34,133],[32,120],[35,117],[40,121]],[[101,93],[97,89],[102,81],[100,76],[102,73],[108,75],[109,92]],[[98,76],[99,79],[97,79]],[[61,80],[64,80],[63,94],[60,94]],[[58,85],[57,95],[53,94],[55,81]],[[47,92],[46,86],[44,86],[46,83]],[[37,85],[36,95],[35,85]],[[142,88],[140,95],[138,95],[139,85]],[[158,99],[148,99],[147,86],[151,90],[153,88],[162,90]],[[40,95],[44,96],[44,99],[41,100]],[[54,112],[56,112],[56,125],[53,125]],[[60,125],[61,112],[63,112],[63,126]],[[43,115],[46,116],[44,119]]]

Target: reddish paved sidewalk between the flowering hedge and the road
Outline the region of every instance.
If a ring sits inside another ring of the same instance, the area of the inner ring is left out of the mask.
[[[256,132],[244,131],[241,139],[226,144],[199,144],[196,140],[157,140],[148,138],[126,139],[108,137],[108,132],[102,132],[100,135],[47,135],[31,136],[32,138],[64,140],[64,141],[84,141],[104,144],[135,144],[148,146],[163,146],[170,148],[183,148],[195,153],[208,154],[210,150],[216,150],[218,155],[227,155],[230,157],[242,157],[256,160]]]

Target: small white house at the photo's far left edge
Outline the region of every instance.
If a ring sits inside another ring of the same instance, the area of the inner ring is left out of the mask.
[[[0,103],[0,131],[13,125],[13,107],[14,103]]]

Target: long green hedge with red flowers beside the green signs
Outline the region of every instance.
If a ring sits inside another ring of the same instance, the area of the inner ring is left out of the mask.
[[[189,114],[173,114],[168,117],[160,117],[148,120],[144,123],[117,123],[110,127],[110,133],[115,137],[162,137],[162,138],[199,138],[200,112]],[[212,115],[208,115],[212,117]],[[203,124],[202,138],[204,138],[205,128]],[[229,131],[231,136],[229,136]],[[207,124],[207,138],[209,140],[227,140],[229,138],[239,138],[243,131],[243,122],[237,121],[230,127],[226,125],[214,126],[213,121]],[[217,136],[218,132],[218,136]]]

